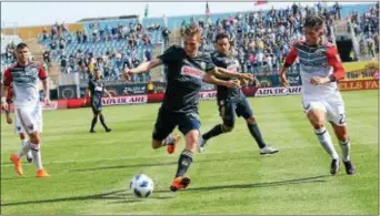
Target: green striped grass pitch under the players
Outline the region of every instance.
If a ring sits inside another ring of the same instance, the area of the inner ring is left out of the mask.
[[[342,93],[351,136],[354,176],[341,167],[329,175],[330,158],[307,122],[301,97],[249,99],[267,143],[276,155],[260,156],[242,119],[236,128],[210,141],[194,155],[187,191],[169,192],[183,138],[173,155],[151,148],[160,104],[104,107],[112,133],[100,123],[89,133],[90,109],[43,114],[44,167],[50,178],[34,177],[23,160],[24,176],[9,156],[20,150],[13,126],[1,119],[1,214],[379,214],[378,91]],[[220,122],[214,101],[200,103],[202,132]],[[341,153],[336,137],[334,146]],[[134,198],[130,178],[153,178],[149,198]]]

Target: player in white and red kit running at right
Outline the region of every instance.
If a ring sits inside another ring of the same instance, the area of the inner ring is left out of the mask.
[[[344,102],[337,82],[344,79],[344,68],[337,48],[322,42],[323,20],[320,17],[306,18],[306,41],[296,42],[281,70],[281,82],[289,86],[286,72],[299,58],[302,79],[302,104],[324,151],[331,156],[330,173],[337,174],[340,160],[326,128],[326,117],[331,123],[342,150],[346,173],[352,175],[356,168],[350,160],[350,138],[346,126]]]

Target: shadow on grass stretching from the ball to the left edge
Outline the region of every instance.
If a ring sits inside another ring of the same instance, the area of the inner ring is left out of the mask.
[[[63,197],[63,198],[52,198],[52,199],[1,203],[0,206],[4,207],[4,206],[90,200],[90,199],[116,200],[118,203],[138,203],[142,200],[142,199],[136,198],[131,193],[126,193],[126,191],[123,189],[123,191],[113,191],[113,192],[108,192],[103,194],[94,194],[94,195],[88,195],[88,196],[74,196],[74,197]]]

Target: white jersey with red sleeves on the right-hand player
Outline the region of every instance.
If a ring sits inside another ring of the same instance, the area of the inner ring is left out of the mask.
[[[286,66],[290,66],[299,58],[302,80],[303,97],[324,99],[338,94],[337,82],[321,85],[310,83],[312,76],[332,76],[334,80],[344,78],[344,68],[340,61],[337,48],[331,43],[310,47],[306,42],[296,42],[286,59]]]

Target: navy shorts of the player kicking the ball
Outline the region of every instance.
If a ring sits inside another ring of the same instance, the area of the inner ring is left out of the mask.
[[[200,121],[198,113],[173,113],[161,107],[159,110],[153,140],[163,141],[178,126],[178,130],[186,135],[192,130],[200,128]]]

